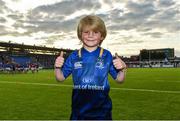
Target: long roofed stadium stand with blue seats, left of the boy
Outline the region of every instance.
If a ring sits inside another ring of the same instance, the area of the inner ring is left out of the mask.
[[[0,42],[0,70],[34,73],[41,68],[52,69],[60,51],[66,53],[66,58],[73,50]]]

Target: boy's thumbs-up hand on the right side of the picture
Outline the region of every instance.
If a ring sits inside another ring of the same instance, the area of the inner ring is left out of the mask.
[[[126,69],[126,64],[123,60],[118,56],[117,53],[115,53],[116,58],[113,60],[113,64],[117,70],[123,70]]]

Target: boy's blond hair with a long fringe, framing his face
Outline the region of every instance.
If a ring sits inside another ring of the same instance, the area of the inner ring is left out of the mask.
[[[100,42],[100,45],[102,41],[106,38],[107,30],[106,26],[104,24],[104,21],[95,15],[88,15],[82,18],[79,21],[78,27],[77,27],[77,36],[82,41],[82,32],[85,27],[90,27],[92,31],[99,31],[102,36],[102,40]]]

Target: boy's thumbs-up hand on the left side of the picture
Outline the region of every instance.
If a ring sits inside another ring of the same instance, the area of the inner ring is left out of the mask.
[[[55,68],[61,68],[64,64],[64,58],[63,58],[64,52],[61,51],[60,55],[56,58],[55,61]]]

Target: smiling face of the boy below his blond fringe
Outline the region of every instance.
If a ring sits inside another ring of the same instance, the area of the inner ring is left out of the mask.
[[[82,42],[87,47],[96,47],[103,40],[101,33],[99,31],[93,31],[88,27],[84,28],[82,31]]]

